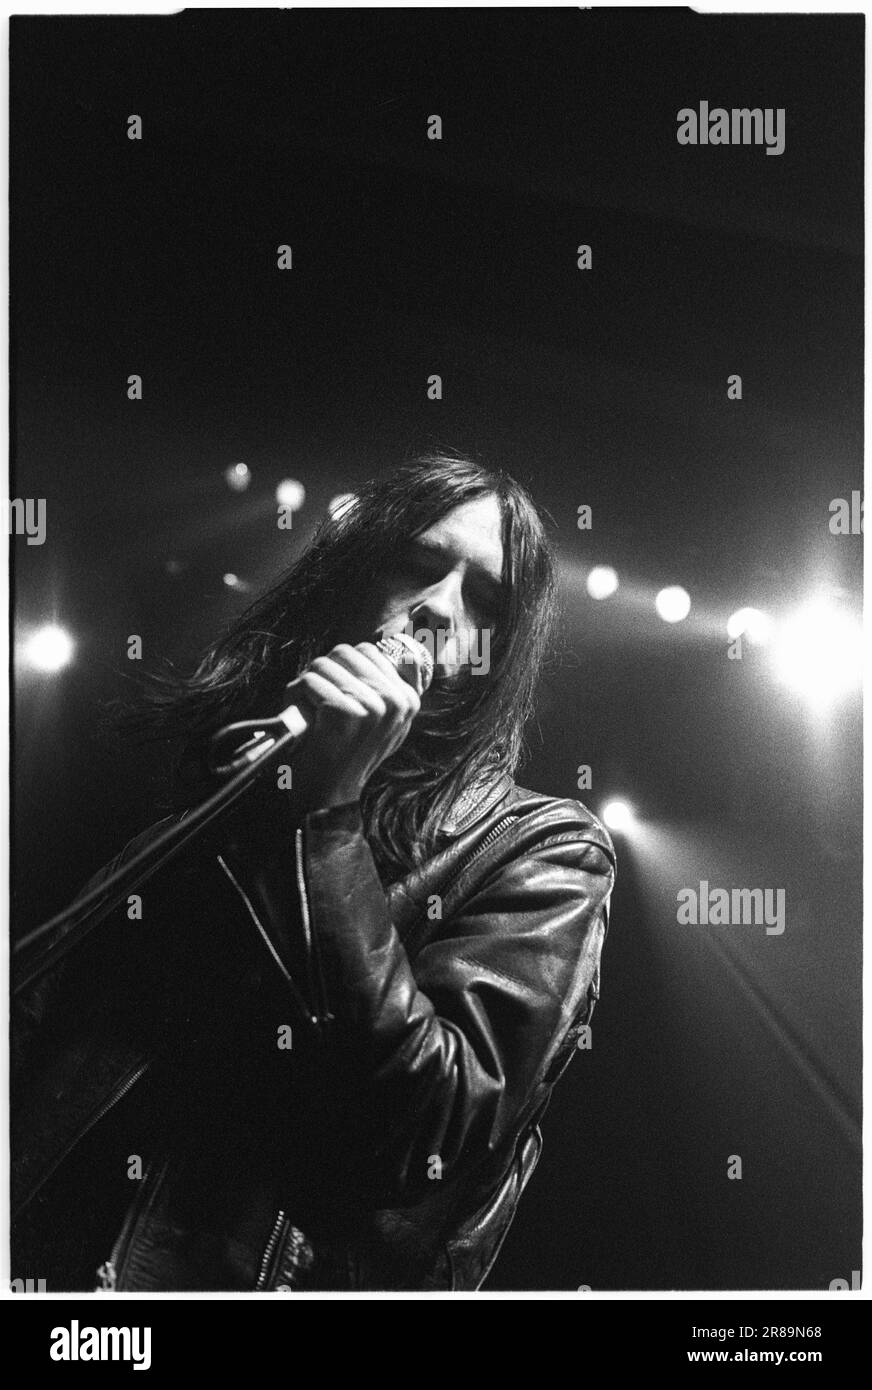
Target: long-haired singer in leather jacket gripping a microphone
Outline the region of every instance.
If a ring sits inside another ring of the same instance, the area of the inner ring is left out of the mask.
[[[433,453],[359,488],[193,674],[153,677],[168,815],[89,891],[220,783],[229,726],[257,776],[17,1001],[14,1277],[481,1286],[615,876],[580,802],[515,783],[554,623],[528,495]],[[299,737],[271,756],[278,712]]]

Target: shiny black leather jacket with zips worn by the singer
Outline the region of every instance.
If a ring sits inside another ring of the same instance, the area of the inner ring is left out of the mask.
[[[85,1145],[107,1191],[129,1168],[104,1287],[485,1279],[599,992],[612,842],[508,777],[387,891],[357,806],[270,842],[188,856],[25,999],[15,1276],[45,1277]]]

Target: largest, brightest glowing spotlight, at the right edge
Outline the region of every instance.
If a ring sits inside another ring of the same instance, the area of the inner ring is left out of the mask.
[[[812,599],[779,627],[773,646],[780,681],[823,708],[862,678],[862,627],[826,599]]]

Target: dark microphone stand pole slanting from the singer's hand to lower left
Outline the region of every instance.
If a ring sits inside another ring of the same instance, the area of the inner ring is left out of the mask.
[[[263,721],[259,727],[263,728]],[[206,826],[238,801],[263,769],[273,763],[273,759],[266,758],[266,753],[285,752],[298,739],[299,730],[286,730],[280,737],[261,742],[259,748],[255,745],[248,753],[242,753],[246,764],[218,787],[211,796],[195,806],[193,810],[185,812],[182,820],[168,826],[156,840],[135,853],[128,863],[111,873],[104,883],[97,884],[70,908],[22,937],[11,948],[13,995],[21,994],[46,970],[63,960],[134,888],[163,869],[179,849],[184,849],[196,835],[203,833]],[[63,929],[67,930],[58,941],[43,945],[46,937],[51,937]],[[39,949],[40,947],[42,949]]]

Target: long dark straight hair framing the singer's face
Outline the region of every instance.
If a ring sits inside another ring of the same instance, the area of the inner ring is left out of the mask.
[[[216,728],[280,709],[285,684],[344,639],[353,595],[384,581],[402,545],[453,507],[488,495],[502,513],[505,594],[490,674],[444,689],[434,682],[433,709],[421,710],[362,799],[380,872],[407,872],[433,852],[465,790],[498,770],[515,771],[551,639],[551,546],[528,493],[508,474],[439,450],[356,488],[353,503],[320,525],[291,569],[206,649],[193,674],[168,669],[147,677],[145,703],[127,727],[179,738],[182,764],[202,766]]]

